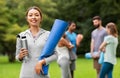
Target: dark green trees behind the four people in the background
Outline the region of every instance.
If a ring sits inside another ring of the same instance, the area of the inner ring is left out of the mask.
[[[92,17],[99,15],[102,17],[103,26],[108,22],[114,22],[119,27],[120,1],[119,0],[53,0],[57,3],[57,9],[60,12],[58,17],[65,20],[75,21],[77,24],[77,33],[82,33],[84,39],[78,48],[78,53],[90,51]],[[119,30],[120,31],[120,30]],[[119,39],[120,41],[120,39]],[[120,45],[118,46],[120,47]],[[120,48],[118,48],[120,50]],[[120,53],[118,53],[120,55]]]

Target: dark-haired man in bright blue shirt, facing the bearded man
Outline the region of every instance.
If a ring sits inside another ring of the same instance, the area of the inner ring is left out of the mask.
[[[83,39],[83,36],[77,34],[74,32],[76,29],[76,24],[74,22],[69,22],[68,30],[65,32],[66,38],[72,45],[74,45],[74,48],[72,48],[72,51],[76,55],[77,47],[80,45],[80,42]],[[71,76],[74,78],[74,70],[76,68],[75,65],[75,60],[71,61],[70,63],[70,71],[71,71]]]

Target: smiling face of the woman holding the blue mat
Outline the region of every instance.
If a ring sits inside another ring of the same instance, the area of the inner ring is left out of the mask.
[[[42,17],[38,10],[31,9],[28,11],[27,14],[27,22],[31,26],[39,26],[40,22],[42,21]]]

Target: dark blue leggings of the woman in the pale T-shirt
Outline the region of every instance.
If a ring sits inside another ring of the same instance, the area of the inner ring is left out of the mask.
[[[100,70],[100,78],[105,78],[106,75],[107,78],[112,78],[113,66],[111,63],[104,62]]]

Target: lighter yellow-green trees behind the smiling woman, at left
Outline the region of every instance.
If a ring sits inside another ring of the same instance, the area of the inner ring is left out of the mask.
[[[14,62],[16,35],[28,27],[25,19],[25,12],[27,8],[30,6],[39,6],[43,10],[42,27],[50,30],[54,21],[52,18],[52,16],[54,17],[54,14],[52,12],[56,11],[53,8],[55,7],[55,4],[50,0],[6,0],[1,1],[0,4],[0,52],[3,52],[9,56],[9,62]],[[51,16],[46,14],[50,12]]]

